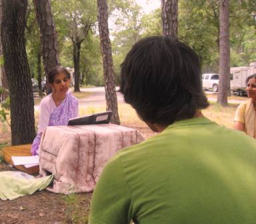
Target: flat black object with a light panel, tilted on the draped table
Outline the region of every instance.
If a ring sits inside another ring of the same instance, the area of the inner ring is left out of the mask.
[[[106,111],[103,113],[93,113],[83,117],[75,117],[69,119],[67,125],[98,125],[109,123],[110,117],[113,114],[112,111]]]

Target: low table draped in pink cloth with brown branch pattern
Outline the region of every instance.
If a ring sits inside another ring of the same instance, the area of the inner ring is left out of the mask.
[[[93,191],[104,165],[119,149],[144,140],[136,129],[120,125],[51,126],[40,143],[39,169],[55,180],[49,191]]]

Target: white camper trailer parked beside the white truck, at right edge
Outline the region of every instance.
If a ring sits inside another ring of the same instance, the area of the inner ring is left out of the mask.
[[[246,79],[249,75],[256,74],[256,62],[250,63],[247,67],[231,67],[231,91],[237,93],[237,95],[245,95]]]

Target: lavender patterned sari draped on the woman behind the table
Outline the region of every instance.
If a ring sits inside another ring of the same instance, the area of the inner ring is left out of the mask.
[[[78,115],[78,101],[71,93],[67,93],[64,101],[56,107],[49,117],[49,126],[61,126],[67,125],[69,119],[77,117]],[[39,145],[41,141],[42,133],[37,133],[32,147],[32,155],[38,155]]]

